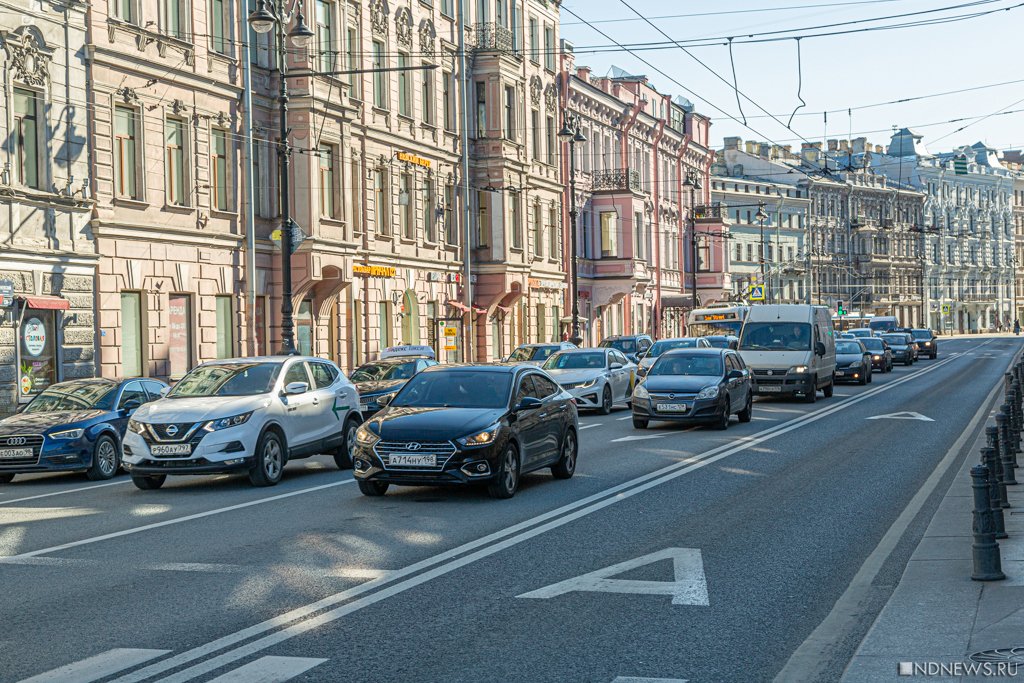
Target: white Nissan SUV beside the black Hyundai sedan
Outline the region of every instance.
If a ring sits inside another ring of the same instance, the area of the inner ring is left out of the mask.
[[[358,408],[355,387],[324,358],[215,360],[135,412],[123,466],[139,488],[159,488],[168,474],[233,471],[272,486],[290,459],[321,453],[346,469],[362,423]]]

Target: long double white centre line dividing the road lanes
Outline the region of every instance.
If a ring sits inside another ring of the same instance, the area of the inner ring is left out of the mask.
[[[290,638],[312,631],[313,629],[319,628],[325,624],[330,624],[331,622],[337,621],[347,614],[358,611],[359,609],[416,588],[421,584],[432,581],[437,577],[447,574],[463,566],[472,564],[477,560],[489,557],[490,555],[499,553],[507,548],[511,548],[519,543],[528,541],[529,539],[541,536],[542,533],[546,533],[551,529],[558,528],[575,521],[577,519],[581,519],[587,515],[602,510],[610,505],[614,505],[615,503],[620,503],[628,498],[642,494],[643,492],[653,488],[654,486],[658,486],[677,477],[689,474],[690,472],[708,465],[712,465],[723,458],[741,453],[776,436],[786,434],[796,429],[800,429],[807,424],[822,420],[835,413],[839,413],[856,405],[863,400],[867,400],[876,394],[890,391],[906,382],[912,382],[928,373],[935,372],[952,360],[953,358],[941,360],[936,365],[931,366],[928,370],[906,375],[892,382],[887,382],[886,384],[869,389],[860,395],[851,398],[850,400],[837,402],[827,408],[822,408],[813,413],[808,413],[805,417],[797,418],[790,422],[769,427],[768,429],[750,436],[741,436],[737,438],[734,443],[725,443],[716,446],[710,451],[706,451],[705,453],[686,458],[671,465],[667,465],[659,470],[648,472],[647,474],[630,479],[629,481],[615,484],[614,486],[610,486],[604,490],[563,505],[555,510],[550,510],[530,519],[526,519],[517,524],[513,524],[512,526],[489,533],[485,537],[475,539],[457,548],[453,548],[452,550],[427,557],[401,569],[395,569],[393,572],[384,578],[368,581],[365,584],[340,591],[334,595],[329,595],[321,600],[317,600],[316,602],[296,607],[283,614],[279,614],[258,624],[254,624],[253,626],[247,627],[241,631],[221,636],[216,640],[199,645],[190,650],[186,650],[180,654],[176,654],[157,664],[153,664],[148,667],[132,672],[131,674],[122,676],[116,681],[113,681],[113,683],[137,683],[138,681],[144,681],[155,676],[159,676],[191,661],[203,659],[203,661],[179,672],[173,678],[165,679],[162,683],[181,683],[183,681],[189,681],[195,677],[202,676],[232,661],[256,654],[257,652],[260,652],[268,647],[272,647],[278,643],[285,642]],[[424,569],[428,570],[424,571]],[[418,573],[421,571],[422,573]],[[402,579],[404,581],[392,584],[392,582]],[[340,604],[375,590],[377,591],[376,593],[360,597],[345,604]],[[329,611],[322,612],[322,610],[333,607],[334,605],[340,606],[334,607]],[[317,612],[321,613],[317,614]],[[313,616],[314,614],[315,616]],[[275,629],[280,630],[274,631]],[[257,636],[262,637],[214,657],[206,658],[218,650],[233,647],[239,645],[239,643],[243,643],[251,638],[256,638]]]

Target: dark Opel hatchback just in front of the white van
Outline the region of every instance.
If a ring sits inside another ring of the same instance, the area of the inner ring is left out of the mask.
[[[633,426],[652,420],[729,426],[735,414],[750,422],[754,386],[750,370],[732,349],[688,348],[663,353],[633,391]]]

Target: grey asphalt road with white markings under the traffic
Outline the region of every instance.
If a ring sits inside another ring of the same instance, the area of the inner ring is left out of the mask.
[[[758,401],[725,432],[585,416],[575,477],[528,475],[510,501],[364,498],[327,458],[272,488],[18,477],[0,486],[0,681],[771,680],[1019,347],[943,340],[938,360],[815,404]],[[899,413],[925,419],[870,419]]]

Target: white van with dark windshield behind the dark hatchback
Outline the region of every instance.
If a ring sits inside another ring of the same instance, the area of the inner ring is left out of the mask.
[[[739,355],[754,372],[759,395],[831,396],[836,337],[824,306],[751,306],[739,335]]]

